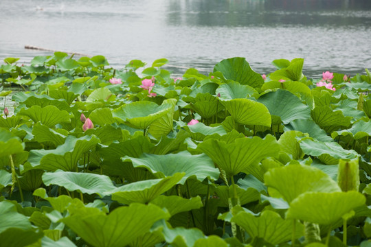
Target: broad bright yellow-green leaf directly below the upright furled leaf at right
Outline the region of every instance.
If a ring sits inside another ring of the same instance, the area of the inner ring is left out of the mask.
[[[365,203],[366,197],[358,191],[307,192],[291,202],[286,218],[330,225]]]

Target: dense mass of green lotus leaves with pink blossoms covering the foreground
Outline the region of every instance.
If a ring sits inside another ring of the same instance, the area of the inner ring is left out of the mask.
[[[17,60],[0,67],[1,246],[370,246],[367,69]]]

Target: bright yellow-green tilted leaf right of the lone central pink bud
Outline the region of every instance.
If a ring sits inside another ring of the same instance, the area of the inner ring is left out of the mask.
[[[221,103],[238,124],[271,127],[271,114],[264,104],[251,99],[231,99]]]

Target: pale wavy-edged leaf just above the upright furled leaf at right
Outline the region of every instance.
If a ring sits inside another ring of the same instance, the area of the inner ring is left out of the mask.
[[[328,165],[337,164],[337,160],[342,159],[354,159],[359,156],[355,150],[345,150],[335,142],[322,142],[311,139],[302,139],[300,141],[300,148],[302,148],[305,154],[311,156],[317,156],[323,158],[322,161]],[[330,156],[330,158],[324,156]]]

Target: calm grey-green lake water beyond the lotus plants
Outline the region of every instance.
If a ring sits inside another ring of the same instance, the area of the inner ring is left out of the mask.
[[[0,60],[25,63],[52,54],[24,49],[34,45],[117,68],[168,58],[208,73],[242,56],[259,73],[278,58],[304,58],[309,77],[371,69],[370,0],[0,0],[0,27]]]

